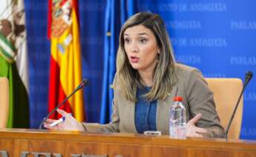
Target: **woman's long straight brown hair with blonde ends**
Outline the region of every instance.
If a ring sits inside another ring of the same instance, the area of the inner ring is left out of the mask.
[[[171,92],[174,81],[175,60],[163,19],[154,13],[137,13],[122,25],[119,35],[119,49],[116,56],[116,77],[113,87],[114,90],[119,90],[119,94],[122,94],[128,100],[137,101],[137,87],[142,87],[142,84],[140,83],[140,74],[131,67],[128,56],[125,53],[124,32],[128,27],[134,27],[140,24],[154,33],[157,39],[157,46],[160,47],[160,54],[152,78],[153,86],[144,96],[148,101],[156,99],[163,100]]]

